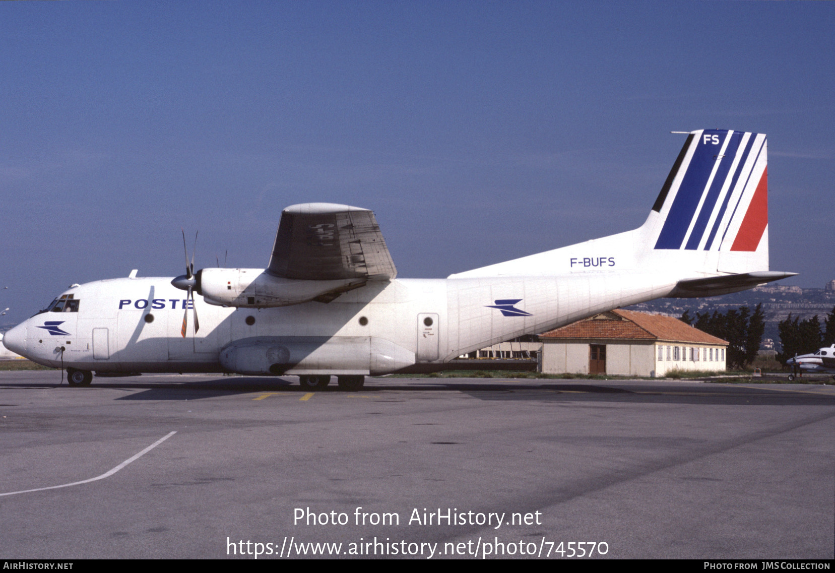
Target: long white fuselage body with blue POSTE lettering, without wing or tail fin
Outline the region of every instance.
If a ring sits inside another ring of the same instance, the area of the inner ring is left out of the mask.
[[[189,310],[185,337],[185,292],[170,281],[123,278],[73,287],[64,294],[73,294],[77,312],[42,312],[7,339],[37,363],[97,372],[270,373],[245,366],[251,363],[245,352],[230,363],[229,349],[255,344],[268,361],[287,363],[286,356],[271,357],[275,342],[290,348],[292,366],[272,373],[382,374],[663,297],[676,276],[609,271],[372,281],[329,303],[261,309],[218,307],[197,296],[200,330],[195,334]],[[505,316],[497,308],[508,300],[518,300],[510,307],[521,313]]]

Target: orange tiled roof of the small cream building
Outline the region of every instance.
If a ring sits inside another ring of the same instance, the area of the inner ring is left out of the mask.
[[[601,312],[594,317],[572,322],[540,338],[594,338],[618,340],[660,340],[665,342],[697,342],[700,344],[723,344],[727,342],[691,327],[677,318],[660,314],[625,311],[620,308]]]

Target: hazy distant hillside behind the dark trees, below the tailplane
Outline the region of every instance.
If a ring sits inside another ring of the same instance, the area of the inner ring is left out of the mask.
[[[765,338],[772,338],[779,342],[777,324],[785,320],[789,313],[801,320],[811,318],[817,314],[822,321],[828,312],[835,307],[835,281],[827,284],[826,288],[802,288],[767,286],[752,288],[750,291],[735,292],[731,295],[710,298],[659,298],[655,301],[641,302],[626,307],[630,310],[644,312],[658,312],[671,317],[681,317],[690,310],[691,316],[696,312],[726,312],[730,308],[756,307],[762,302],[762,312],[766,315]]]

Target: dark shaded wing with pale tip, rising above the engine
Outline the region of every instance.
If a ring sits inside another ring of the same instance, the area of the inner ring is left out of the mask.
[[[374,212],[332,203],[291,205],[281,212],[267,271],[312,281],[397,276]]]

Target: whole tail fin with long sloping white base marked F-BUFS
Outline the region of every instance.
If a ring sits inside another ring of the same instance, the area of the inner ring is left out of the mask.
[[[450,278],[665,270],[682,279],[727,273],[765,282],[767,177],[765,134],[699,129],[688,135],[640,228]]]

